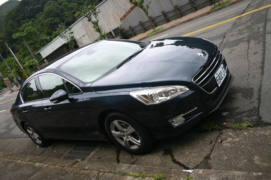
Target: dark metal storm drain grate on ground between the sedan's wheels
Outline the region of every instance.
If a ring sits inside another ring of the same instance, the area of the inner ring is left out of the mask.
[[[97,147],[98,143],[78,143],[64,159],[85,160]]]

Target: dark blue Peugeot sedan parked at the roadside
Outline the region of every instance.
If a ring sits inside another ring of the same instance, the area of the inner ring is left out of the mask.
[[[217,109],[232,80],[221,51],[204,39],[102,40],[34,73],[10,112],[41,147],[110,138],[144,154],[154,139],[179,135]]]

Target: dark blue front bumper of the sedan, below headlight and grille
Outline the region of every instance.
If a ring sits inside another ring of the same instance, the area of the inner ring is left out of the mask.
[[[206,93],[193,84],[187,93],[165,103],[144,105],[144,108],[133,111],[132,116],[149,129],[157,139],[180,135],[219,107],[232,81],[233,76],[228,71],[223,86],[214,93],[215,97],[214,94]],[[179,126],[172,126],[169,120],[180,115],[185,121]]]

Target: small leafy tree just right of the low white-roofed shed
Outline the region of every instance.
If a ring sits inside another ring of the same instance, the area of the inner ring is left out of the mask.
[[[60,35],[62,39],[67,41],[70,51],[74,50],[73,43],[74,35],[73,31],[71,31],[71,27],[67,28],[64,23],[61,23],[57,28],[57,33]]]

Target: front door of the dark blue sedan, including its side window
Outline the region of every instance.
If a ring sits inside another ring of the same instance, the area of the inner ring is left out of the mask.
[[[39,128],[47,138],[83,138],[92,122],[83,104],[81,90],[64,78],[54,74],[38,76],[39,86],[45,97],[42,116],[37,119]],[[69,99],[51,103],[50,97],[59,89],[68,92]]]

